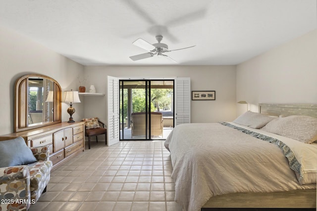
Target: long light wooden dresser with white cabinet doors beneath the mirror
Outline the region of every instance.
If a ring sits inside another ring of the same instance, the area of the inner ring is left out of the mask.
[[[1,135],[0,141],[18,136],[23,137],[29,147],[49,145],[53,169],[67,161],[68,158],[85,150],[84,122],[63,122]]]

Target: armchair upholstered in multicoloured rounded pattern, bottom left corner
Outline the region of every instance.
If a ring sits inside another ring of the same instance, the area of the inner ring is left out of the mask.
[[[4,142],[0,141],[0,144]],[[0,168],[0,211],[26,211],[46,191],[53,167],[52,161],[49,161],[50,148],[41,146],[28,149],[31,149],[29,151],[35,162]],[[20,151],[10,153],[22,154]],[[2,156],[3,152],[0,152]]]

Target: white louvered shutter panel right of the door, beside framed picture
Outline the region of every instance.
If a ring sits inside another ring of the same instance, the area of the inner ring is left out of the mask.
[[[177,78],[175,126],[190,123],[190,96],[190,78]]]

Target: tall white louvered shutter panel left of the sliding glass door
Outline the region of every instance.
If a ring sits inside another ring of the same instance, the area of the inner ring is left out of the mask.
[[[107,76],[107,145],[119,142],[119,79]]]

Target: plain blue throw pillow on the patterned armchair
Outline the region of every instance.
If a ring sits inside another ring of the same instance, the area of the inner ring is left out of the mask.
[[[0,168],[37,162],[22,137],[0,141]]]

